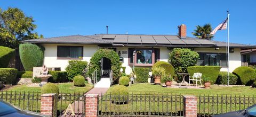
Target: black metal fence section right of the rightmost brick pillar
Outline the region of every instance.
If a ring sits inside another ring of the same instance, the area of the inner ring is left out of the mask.
[[[250,95],[199,95],[197,96],[198,116],[212,116],[244,110],[254,105],[256,98]]]

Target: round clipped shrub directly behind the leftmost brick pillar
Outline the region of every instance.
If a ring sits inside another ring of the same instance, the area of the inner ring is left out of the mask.
[[[59,87],[53,83],[45,84],[41,89],[42,94],[57,93],[59,94]]]

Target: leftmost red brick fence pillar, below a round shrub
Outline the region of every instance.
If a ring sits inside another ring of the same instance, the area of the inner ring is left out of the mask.
[[[41,95],[41,114],[53,115],[55,93]]]

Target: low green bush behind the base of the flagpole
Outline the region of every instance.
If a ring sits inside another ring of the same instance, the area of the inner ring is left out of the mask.
[[[229,73],[229,84],[236,85],[237,84],[237,76]],[[227,71],[220,71],[219,77],[216,80],[215,84],[218,85],[227,85],[228,84],[228,72]]]

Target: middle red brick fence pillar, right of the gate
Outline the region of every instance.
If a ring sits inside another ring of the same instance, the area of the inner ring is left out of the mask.
[[[97,117],[99,94],[85,95],[85,117]]]

